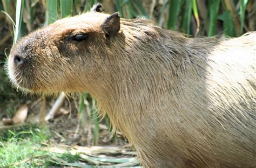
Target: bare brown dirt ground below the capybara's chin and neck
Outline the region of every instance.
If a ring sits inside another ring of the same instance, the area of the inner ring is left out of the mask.
[[[29,113],[26,122],[40,123],[41,109],[43,101],[37,99],[29,103]],[[46,101],[46,114],[50,111],[52,104],[56,99],[48,99]],[[70,101],[70,102],[69,102]],[[46,122],[46,127],[51,132],[52,141],[57,144],[65,144],[69,146],[91,146],[93,145],[92,134],[94,125],[92,123],[85,123],[83,118],[79,117],[77,106],[78,96],[72,96],[70,100],[65,100],[63,106],[60,108],[58,115],[49,122]],[[70,111],[71,110],[71,111]],[[95,145],[126,145],[126,139],[117,132],[114,137],[111,137],[109,128],[105,122],[105,118],[99,123],[99,139]]]

